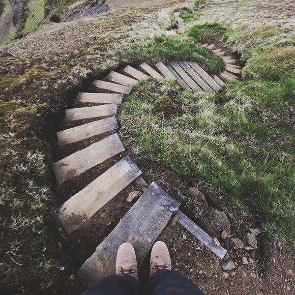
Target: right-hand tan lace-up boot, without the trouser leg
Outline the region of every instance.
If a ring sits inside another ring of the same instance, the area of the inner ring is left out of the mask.
[[[150,267],[150,276],[161,270],[171,271],[171,259],[168,248],[164,242],[158,241],[153,246]]]

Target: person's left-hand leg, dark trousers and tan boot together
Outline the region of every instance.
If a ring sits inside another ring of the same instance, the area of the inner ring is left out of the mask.
[[[131,244],[122,244],[117,252],[116,275],[97,281],[82,295],[138,295],[139,284],[135,251]]]

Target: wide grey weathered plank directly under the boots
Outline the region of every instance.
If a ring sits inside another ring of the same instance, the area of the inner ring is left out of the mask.
[[[116,253],[123,243],[132,244],[140,267],[143,258],[178,208],[178,202],[152,183],[85,261],[76,274],[77,278],[88,286],[114,274]]]

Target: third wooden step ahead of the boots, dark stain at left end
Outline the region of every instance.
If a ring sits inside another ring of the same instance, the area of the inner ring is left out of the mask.
[[[61,184],[123,151],[124,146],[117,134],[93,143],[53,164],[57,183]]]

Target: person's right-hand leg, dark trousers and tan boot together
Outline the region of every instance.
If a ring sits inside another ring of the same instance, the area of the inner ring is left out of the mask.
[[[171,259],[164,242],[155,243],[151,253],[150,282],[146,286],[149,295],[202,295],[202,291],[188,278],[171,271]]]

